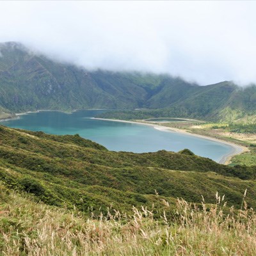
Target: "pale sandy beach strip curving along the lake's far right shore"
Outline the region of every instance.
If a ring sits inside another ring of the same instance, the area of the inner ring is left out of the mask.
[[[129,123],[129,124],[140,124],[140,125],[148,125],[153,127],[154,129],[157,129],[159,131],[164,131],[164,132],[179,132],[182,134],[186,134],[186,135],[190,135],[190,136],[195,136],[197,138],[202,138],[205,140],[211,140],[214,142],[220,142],[223,143],[225,145],[228,145],[232,148],[232,151],[226,155],[224,155],[220,161],[218,161],[219,164],[229,164],[230,160],[233,156],[242,154],[244,152],[248,152],[248,148],[243,147],[241,145],[237,145],[236,143],[232,143],[232,142],[228,142],[225,140],[220,140],[217,138],[212,138],[209,136],[204,136],[204,135],[200,135],[200,134],[196,134],[196,133],[192,133],[192,132],[188,132],[188,131],[184,131],[182,129],[177,129],[177,128],[171,128],[171,127],[166,127],[163,125],[159,125],[159,124],[149,124],[149,123],[143,123],[143,122],[136,122],[136,121],[127,121],[127,120],[115,120],[115,119],[108,119],[108,118],[95,118],[95,117],[91,117],[91,119],[95,119],[95,120],[103,120],[103,121],[111,121],[111,122],[123,122],[123,123]]]

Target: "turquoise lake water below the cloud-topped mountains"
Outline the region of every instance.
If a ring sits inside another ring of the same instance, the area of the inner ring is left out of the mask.
[[[164,132],[148,125],[129,124],[92,119],[100,111],[76,111],[68,114],[58,111],[40,111],[20,115],[20,118],[1,122],[1,124],[43,131],[50,134],[79,134],[96,141],[109,150],[129,152],[156,152],[169,150],[177,152],[189,148],[198,156],[209,157],[214,161],[232,152],[232,147],[223,143],[189,136],[178,132]]]

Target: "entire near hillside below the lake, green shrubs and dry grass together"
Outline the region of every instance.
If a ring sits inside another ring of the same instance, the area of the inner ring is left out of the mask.
[[[188,149],[111,152],[78,134],[0,125],[0,250],[255,255],[255,175]]]

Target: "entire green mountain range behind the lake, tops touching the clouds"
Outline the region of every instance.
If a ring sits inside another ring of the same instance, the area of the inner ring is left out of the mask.
[[[256,120],[256,86],[224,81],[198,86],[168,75],[88,71],[0,44],[0,118],[36,109],[129,109],[109,117],[190,117],[225,122]],[[142,109],[132,111],[133,109]]]

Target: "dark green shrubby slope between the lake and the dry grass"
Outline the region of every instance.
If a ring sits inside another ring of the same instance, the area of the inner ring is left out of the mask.
[[[239,207],[245,189],[256,207],[254,166],[225,166],[182,153],[111,152],[78,135],[55,136],[0,126],[0,179],[46,204],[79,211],[131,211],[159,202],[215,202],[216,191]],[[156,195],[156,191],[159,195]],[[157,203],[164,207],[163,203]]]

